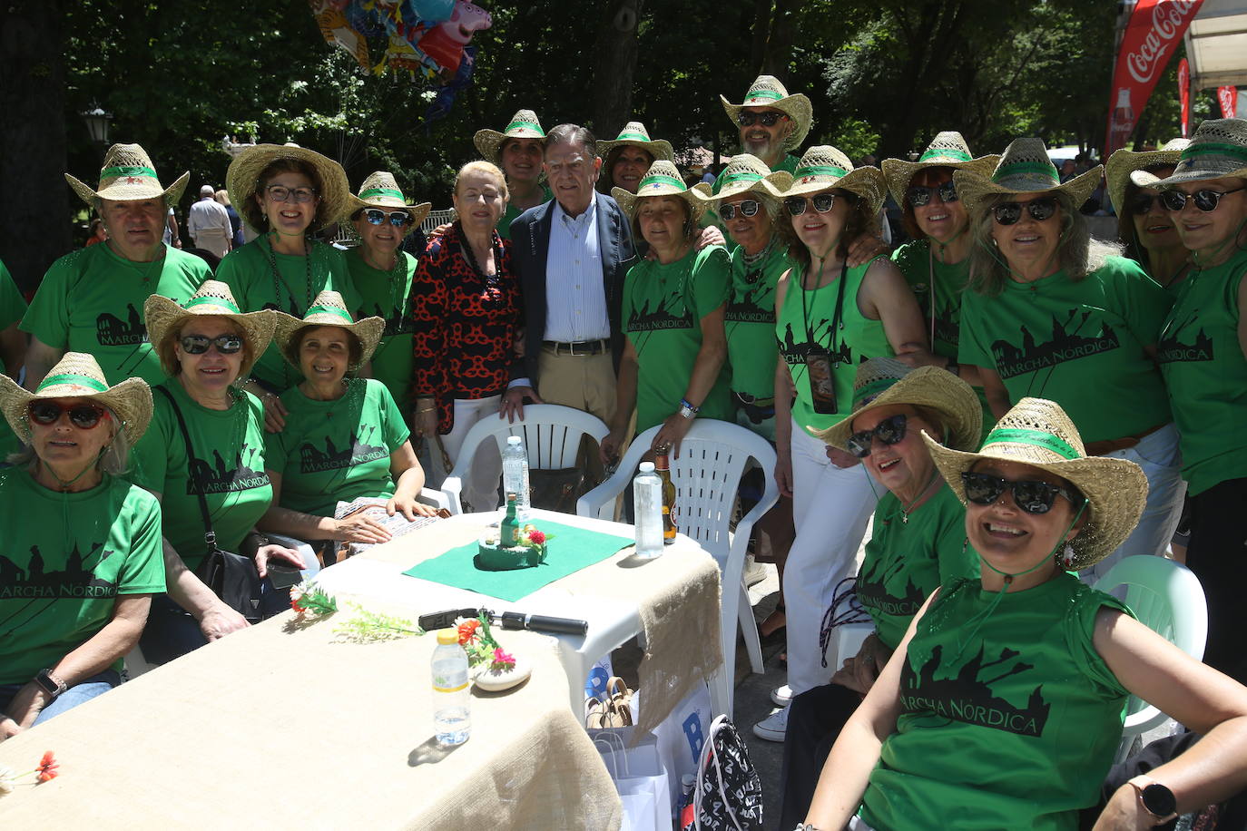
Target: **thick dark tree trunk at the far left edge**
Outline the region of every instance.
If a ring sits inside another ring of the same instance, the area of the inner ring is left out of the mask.
[[[34,289],[72,245],[65,150],[62,0],[0,12],[0,260]]]

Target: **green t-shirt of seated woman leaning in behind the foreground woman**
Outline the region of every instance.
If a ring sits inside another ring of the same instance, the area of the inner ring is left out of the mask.
[[[965,506],[953,488],[943,485],[908,521],[900,500],[883,495],[855,592],[888,649],[900,644],[932,592],[978,576],[979,558],[965,547]]]

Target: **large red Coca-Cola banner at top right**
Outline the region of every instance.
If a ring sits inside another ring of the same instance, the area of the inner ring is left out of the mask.
[[[1139,113],[1201,5],[1203,0],[1139,0],[1135,4],[1112,74],[1105,157],[1130,141]]]

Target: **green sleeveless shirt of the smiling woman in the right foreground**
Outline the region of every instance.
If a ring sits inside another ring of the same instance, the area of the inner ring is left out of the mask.
[[[900,715],[870,774],[872,827],[1072,831],[1121,740],[1126,689],[1092,644],[1119,601],[1066,572],[1005,594],[978,581],[940,589],[900,675]],[[979,615],[979,617],[975,617]]]

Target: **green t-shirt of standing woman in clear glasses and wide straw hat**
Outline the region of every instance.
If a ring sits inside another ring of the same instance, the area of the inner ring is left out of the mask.
[[[302,318],[315,295],[327,290],[340,294],[348,309],[358,309],[359,295],[343,252],[319,242],[311,243],[309,252],[311,263],[307,257],[274,255],[267,235],[261,235],[229,252],[217,267],[217,279],[229,285],[243,311],[277,309]],[[274,262],[277,274],[273,273]],[[277,344],[269,344],[251,374],[278,392],[302,379],[299,370],[282,358]]]

